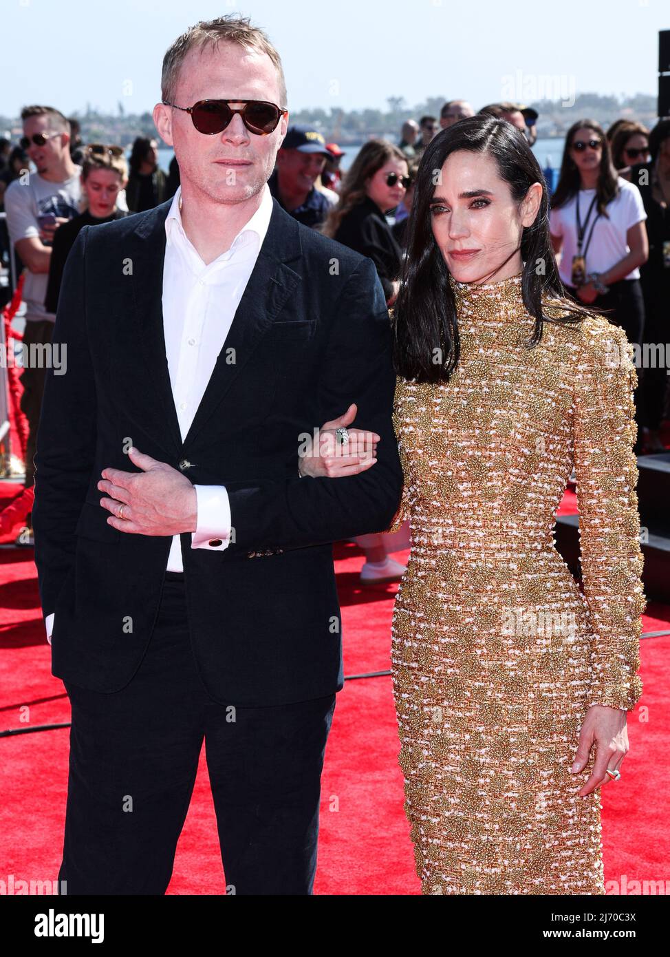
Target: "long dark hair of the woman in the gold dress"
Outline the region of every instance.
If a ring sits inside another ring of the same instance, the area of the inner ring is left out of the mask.
[[[459,120],[425,147],[407,224],[407,255],[393,323],[393,360],[401,376],[417,382],[448,381],[460,358],[456,300],[449,269],[433,235],[429,206],[437,171],[448,156],[461,149],[490,156],[519,204],[533,183],[542,184],[542,201],[535,221],[521,235],[522,294],[524,305],[535,318],[529,346],[542,339],[544,322],[578,323],[588,314],[568,300],[558,276],[549,232],[548,191],[526,137],[507,120],[481,115]],[[557,304],[565,307],[566,315],[559,319],[544,316],[543,293],[560,300]],[[436,348],[444,357],[441,364],[434,362]]]

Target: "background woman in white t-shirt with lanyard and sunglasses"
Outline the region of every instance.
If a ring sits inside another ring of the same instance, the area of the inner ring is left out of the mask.
[[[649,256],[646,218],[638,187],[616,173],[602,128],[594,120],[575,122],[551,198],[560,277],[574,299],[608,310],[638,345],[644,326],[638,267]]]

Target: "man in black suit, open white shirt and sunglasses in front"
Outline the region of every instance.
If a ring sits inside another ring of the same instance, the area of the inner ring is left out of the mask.
[[[79,234],[37,436],[35,561],[73,713],[59,879],[164,893],[205,740],[229,892],[310,894],[342,687],[332,543],[400,501],[388,313],[370,259],[269,195],[288,111],[265,34],[191,28],[162,100],[181,189]],[[376,464],[300,478],[301,436],[352,401]]]

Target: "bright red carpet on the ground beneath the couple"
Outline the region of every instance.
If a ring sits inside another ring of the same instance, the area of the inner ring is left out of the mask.
[[[18,492],[0,485],[0,496]],[[564,508],[573,510],[568,495]],[[12,541],[11,536],[8,540]],[[395,587],[360,590],[362,555],[335,548],[345,674],[389,668]],[[401,555],[397,556],[402,557]],[[32,549],[0,549],[0,728],[70,720],[51,675]],[[670,608],[650,606],[643,631],[670,628]],[[670,863],[666,768],[670,637],[642,641],[644,694],[629,717],[631,752],[619,782],[603,789],[605,878],[662,879]],[[56,879],[67,787],[67,729],[0,739],[0,879]],[[326,751],[317,894],[419,894],[402,778],[391,679],[347,681]],[[170,894],[221,894],[224,874],[204,756],[175,861]]]

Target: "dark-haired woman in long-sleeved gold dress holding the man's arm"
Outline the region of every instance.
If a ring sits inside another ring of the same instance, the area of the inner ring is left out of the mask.
[[[636,369],[623,331],[564,296],[508,122],[426,147],[409,230],[392,668],[421,890],[604,894],[599,789],[641,693]],[[573,469],[583,594],[553,539]]]

